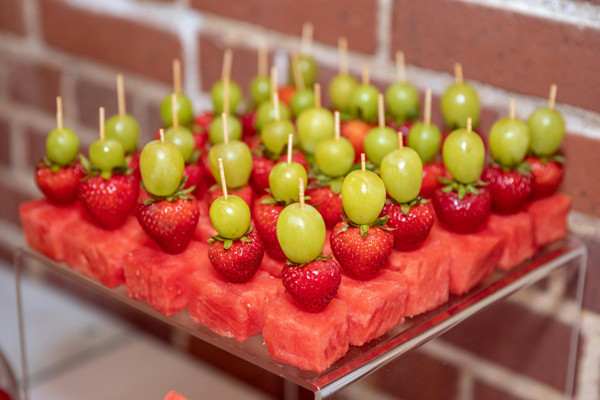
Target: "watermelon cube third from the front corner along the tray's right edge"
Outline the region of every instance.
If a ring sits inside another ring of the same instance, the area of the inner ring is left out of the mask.
[[[424,313],[448,301],[450,258],[446,247],[429,236],[413,251],[392,250],[388,268],[408,284],[406,316]]]

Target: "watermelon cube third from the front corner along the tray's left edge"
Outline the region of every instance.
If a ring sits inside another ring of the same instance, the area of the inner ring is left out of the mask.
[[[213,267],[208,245],[199,242],[190,242],[179,254],[168,254],[148,243],[127,254],[123,262],[127,295],[167,316],[187,307],[191,274],[209,269]]]

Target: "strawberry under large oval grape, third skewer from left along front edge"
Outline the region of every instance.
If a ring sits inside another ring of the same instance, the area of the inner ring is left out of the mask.
[[[178,254],[190,243],[200,211],[192,196],[153,199],[144,192],[137,203],[137,219],[144,232],[164,251]]]

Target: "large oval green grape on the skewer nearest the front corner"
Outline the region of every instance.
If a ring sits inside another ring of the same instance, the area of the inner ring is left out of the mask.
[[[291,261],[306,264],[317,258],[325,244],[325,222],[312,206],[293,203],[277,219],[277,240]]]

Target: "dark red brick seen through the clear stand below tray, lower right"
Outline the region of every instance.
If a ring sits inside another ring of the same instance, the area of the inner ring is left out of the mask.
[[[550,317],[502,302],[442,339],[564,390],[571,329]]]

